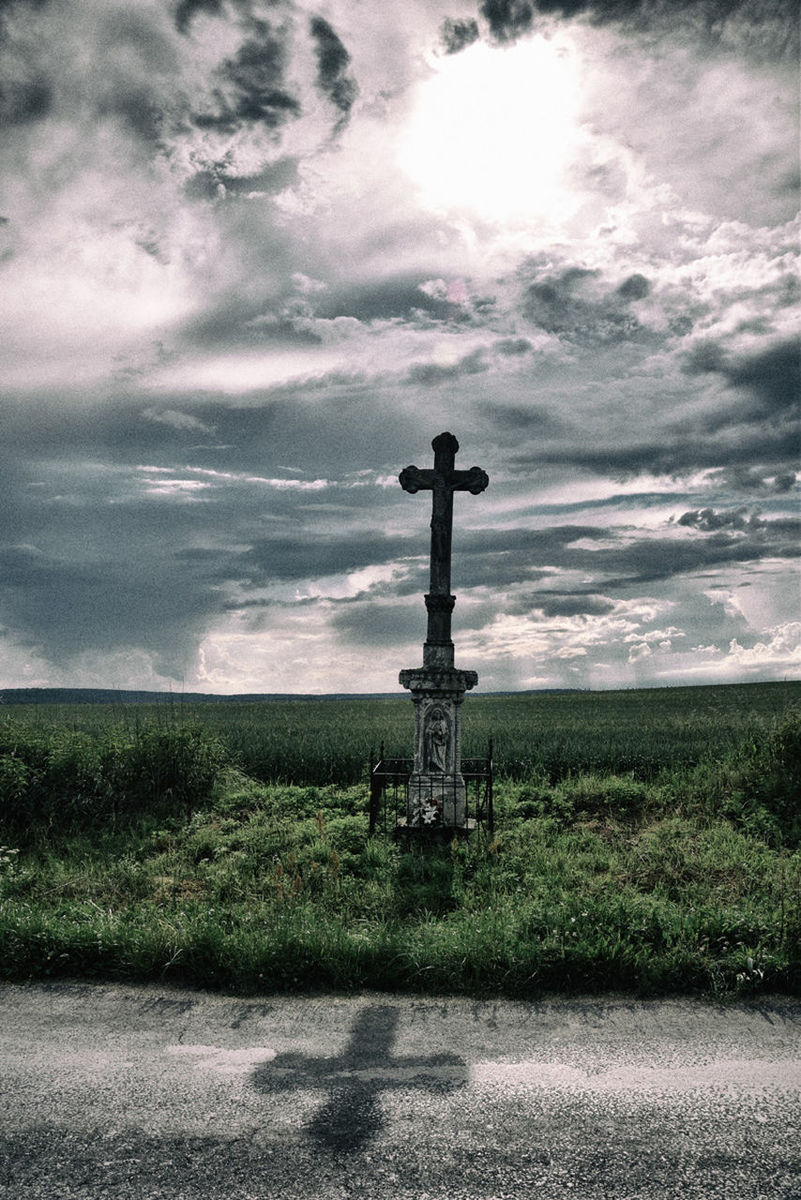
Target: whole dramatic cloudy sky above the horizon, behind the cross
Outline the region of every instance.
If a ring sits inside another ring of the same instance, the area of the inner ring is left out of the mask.
[[[0,686],[801,678],[794,0],[0,0]]]

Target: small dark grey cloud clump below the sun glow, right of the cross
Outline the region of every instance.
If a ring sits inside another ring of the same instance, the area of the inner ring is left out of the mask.
[[[523,316],[531,324],[570,342],[585,346],[622,342],[642,334],[631,301],[648,294],[648,280],[631,276],[609,289],[600,271],[572,266],[530,283],[523,298]]]

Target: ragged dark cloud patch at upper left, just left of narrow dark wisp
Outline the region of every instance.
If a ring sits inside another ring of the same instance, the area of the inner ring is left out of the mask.
[[[276,130],[300,115],[300,101],[284,88],[284,36],[266,20],[251,23],[253,36],[217,68],[216,112],[194,113],[199,128],[233,132],[243,122]]]

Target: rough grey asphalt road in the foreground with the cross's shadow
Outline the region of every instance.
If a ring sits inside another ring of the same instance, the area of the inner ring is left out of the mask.
[[[2,1200],[801,1200],[801,1003],[0,986]]]

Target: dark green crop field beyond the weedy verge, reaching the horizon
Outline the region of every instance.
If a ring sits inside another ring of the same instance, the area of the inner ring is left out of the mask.
[[[482,757],[489,738],[495,767],[552,782],[585,770],[633,772],[654,779],[664,769],[719,757],[793,707],[801,683],[660,688],[640,691],[468,696],[463,754]],[[271,701],[269,703],[5,706],[26,727],[106,738],[143,726],[197,725],[219,738],[241,770],[265,784],[363,781],[371,751],[411,754],[412,706],[397,700]]]

